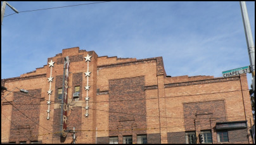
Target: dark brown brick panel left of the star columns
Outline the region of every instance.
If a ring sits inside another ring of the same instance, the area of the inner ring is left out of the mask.
[[[37,137],[32,139],[30,136],[38,134],[39,130],[37,124],[39,124],[41,89],[29,90],[29,96],[20,92],[15,92],[13,95],[14,99],[11,104],[15,107],[12,107],[11,113],[10,142],[37,140]]]

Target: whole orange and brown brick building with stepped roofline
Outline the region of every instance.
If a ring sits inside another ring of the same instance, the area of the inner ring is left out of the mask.
[[[2,143],[71,143],[66,126],[75,127],[75,143],[252,143],[245,74],[170,77],[162,57],[99,57],[74,47],[1,85]]]

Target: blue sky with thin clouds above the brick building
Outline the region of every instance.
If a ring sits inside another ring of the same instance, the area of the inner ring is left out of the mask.
[[[29,11],[94,2],[8,3],[18,11]],[[255,42],[255,2],[246,6]],[[32,72],[70,47],[118,58],[162,56],[172,77],[222,77],[225,70],[250,65],[238,1],[108,2],[12,13],[6,6],[1,79]],[[251,84],[252,75],[247,75]]]

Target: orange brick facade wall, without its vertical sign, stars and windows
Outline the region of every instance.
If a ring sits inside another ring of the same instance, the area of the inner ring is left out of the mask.
[[[91,87],[88,92],[90,98],[88,102],[89,117],[84,117],[86,113],[84,87],[87,85],[87,79],[83,73],[87,71],[88,63],[84,61],[87,54],[93,57],[89,62],[89,71],[91,72],[89,77]],[[25,73],[21,77],[2,80],[1,84],[10,90],[14,87],[29,89],[32,92],[41,90],[41,95],[39,95],[41,106],[39,108],[35,106],[35,111],[31,115],[38,116],[35,117],[35,121],[50,131],[42,129],[39,125],[34,125],[33,127],[37,126],[34,129],[29,124],[18,127],[22,129],[22,132],[34,130],[33,134],[45,134],[46,132],[60,131],[61,100],[58,100],[57,93],[58,88],[63,87],[65,56],[70,58],[68,129],[73,129],[73,127],[81,130],[95,130],[96,127],[98,130],[156,128],[153,130],[98,132],[97,136],[96,132],[77,132],[77,143],[94,143],[96,137],[98,143],[108,143],[109,136],[118,136],[119,142],[122,143],[122,136],[125,135],[132,135],[133,142],[136,142],[138,134],[147,134],[148,143],[172,143],[178,142],[177,136],[184,136],[185,131],[195,130],[195,125],[193,127],[193,123],[191,123],[195,120],[188,118],[197,118],[202,125],[210,123],[210,126],[204,125],[202,129],[212,129],[213,132],[215,131],[213,129],[214,122],[250,120],[252,118],[246,75],[226,79],[203,75],[166,77],[162,57],[143,60],[98,57],[94,51],[79,50],[79,47],[73,47],[63,49],[62,53],[48,58],[46,65],[36,68],[35,71]],[[47,78],[51,73],[48,62],[51,60],[55,61],[52,69],[54,79],[51,83],[53,92],[51,94],[50,120],[46,120],[48,115],[46,101],[48,101],[47,91],[49,90]],[[80,85],[79,101],[71,102],[74,87],[77,85]],[[4,92],[2,95],[6,95],[6,93],[8,92]],[[14,101],[15,96],[10,94],[7,99]],[[37,102],[33,101],[33,103]],[[25,105],[21,107],[27,108]],[[29,120],[22,118],[23,115],[18,115],[6,102],[2,102],[2,110],[4,110],[2,111],[2,118],[4,118],[2,142],[9,142],[9,138],[10,141],[16,141],[14,138],[20,135],[15,135],[15,129],[7,118],[15,120],[15,122],[18,119],[22,120],[21,122],[23,120],[29,122]],[[208,119],[212,117],[221,117],[222,119]],[[65,141],[60,140],[60,134],[38,136],[36,139],[42,143],[70,143],[72,138],[70,134],[68,136]],[[229,136],[231,136],[230,141],[232,142],[246,142],[247,139],[246,130],[229,131]],[[213,137],[216,138],[215,135]],[[25,140],[24,137],[21,139]],[[180,142],[184,143],[184,137],[181,137]]]

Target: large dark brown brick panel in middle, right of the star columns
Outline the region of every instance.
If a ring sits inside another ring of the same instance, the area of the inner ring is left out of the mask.
[[[146,128],[144,77],[110,80],[109,84],[109,128]],[[118,132],[109,134],[118,136]],[[144,130],[138,130],[137,134],[146,133]],[[126,135],[132,135],[132,132],[122,131],[122,136]]]

